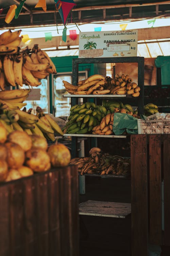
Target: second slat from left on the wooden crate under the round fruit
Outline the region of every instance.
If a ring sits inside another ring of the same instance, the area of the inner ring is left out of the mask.
[[[22,182],[10,184],[10,249],[11,256],[25,256],[24,189]]]

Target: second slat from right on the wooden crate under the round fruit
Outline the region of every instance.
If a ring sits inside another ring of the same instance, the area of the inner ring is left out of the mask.
[[[68,256],[71,254],[70,248],[70,166],[60,171],[60,218],[61,218],[61,255]]]

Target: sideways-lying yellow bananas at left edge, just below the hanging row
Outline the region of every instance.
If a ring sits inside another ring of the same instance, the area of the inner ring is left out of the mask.
[[[30,89],[15,89],[0,91],[0,109],[21,109],[27,105],[23,101],[27,99]]]

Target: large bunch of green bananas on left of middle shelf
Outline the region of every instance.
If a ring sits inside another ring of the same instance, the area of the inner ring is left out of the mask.
[[[94,102],[76,104],[70,108],[70,115],[63,128],[63,132],[69,134],[86,134],[94,126],[100,124],[103,116],[104,114],[100,111],[99,106]]]

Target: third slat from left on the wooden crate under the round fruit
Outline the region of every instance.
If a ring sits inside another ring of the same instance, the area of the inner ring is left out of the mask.
[[[34,177],[24,180],[25,256],[38,255],[38,209]]]

